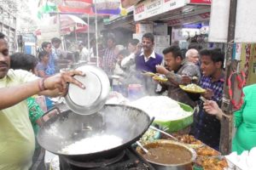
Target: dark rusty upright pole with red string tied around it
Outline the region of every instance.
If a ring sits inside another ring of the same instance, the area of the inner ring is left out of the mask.
[[[226,69],[225,69],[225,83],[224,83],[224,96],[222,102],[222,111],[226,115],[230,115],[230,119],[223,116],[221,121],[221,132],[220,132],[220,144],[219,150],[222,154],[227,155],[230,154],[231,144],[232,144],[232,133],[233,133],[233,116],[232,116],[232,105],[230,103],[230,94],[228,88],[228,79],[231,73],[231,63],[232,55],[233,55],[233,46],[234,46],[234,38],[235,38],[235,30],[236,30],[236,7],[237,0],[230,0],[230,19],[229,19],[229,27],[228,27],[228,44],[226,50]],[[234,90],[234,89],[233,89]]]

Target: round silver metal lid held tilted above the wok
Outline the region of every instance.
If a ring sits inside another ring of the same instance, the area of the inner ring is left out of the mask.
[[[85,73],[85,77],[74,76],[82,82],[85,89],[69,84],[65,97],[67,106],[80,115],[90,115],[102,109],[108,97],[110,83],[108,75],[93,65],[82,65],[77,68]]]

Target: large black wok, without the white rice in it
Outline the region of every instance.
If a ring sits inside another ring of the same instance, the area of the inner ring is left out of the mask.
[[[88,116],[64,111],[44,123],[38,133],[38,143],[45,150],[73,161],[109,158],[141,138],[151,122],[153,120],[145,112],[125,105],[105,105],[98,113]],[[68,144],[96,133],[116,135],[123,139],[123,143],[110,150],[90,154],[69,155],[61,152]]]

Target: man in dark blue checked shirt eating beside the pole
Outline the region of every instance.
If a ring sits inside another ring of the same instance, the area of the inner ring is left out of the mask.
[[[202,94],[206,99],[214,100],[221,105],[224,87],[224,53],[220,49],[203,49],[201,55],[201,88],[207,89]],[[194,115],[194,125],[191,133],[196,139],[211,146],[219,148],[220,121],[216,116],[206,113],[203,101],[199,102],[199,111]]]

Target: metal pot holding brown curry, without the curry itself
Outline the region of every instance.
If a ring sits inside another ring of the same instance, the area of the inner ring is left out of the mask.
[[[178,143],[172,140],[166,140],[166,139],[155,140],[154,142],[144,144],[144,147],[147,148],[147,145],[154,144],[154,143],[155,144],[176,144],[178,146],[183,147],[186,150],[189,150],[189,152],[191,153],[190,161],[187,161],[181,164],[161,164],[161,163],[146,159],[149,163],[151,163],[154,166],[155,169],[157,170],[191,170],[192,169],[192,162],[195,161],[195,158],[196,158],[195,150],[189,148],[185,144],[181,144],[181,143]],[[141,150],[140,148],[137,148],[137,151],[139,154],[143,155],[143,150]]]

